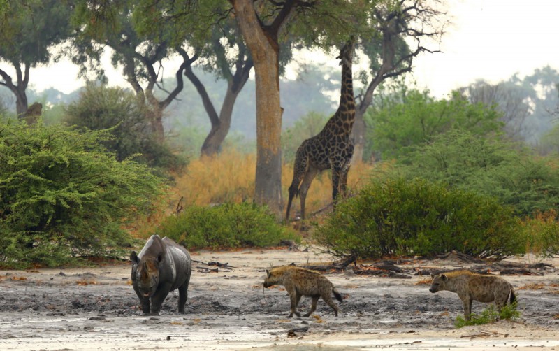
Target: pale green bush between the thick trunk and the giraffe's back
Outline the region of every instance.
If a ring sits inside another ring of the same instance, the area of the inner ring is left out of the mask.
[[[293,162],[301,143],[305,139],[319,134],[327,121],[327,115],[310,112],[296,121],[293,127],[284,130],[282,133],[282,156],[284,157],[284,162]]]

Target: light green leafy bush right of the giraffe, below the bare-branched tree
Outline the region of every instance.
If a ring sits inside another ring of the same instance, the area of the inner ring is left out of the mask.
[[[458,94],[440,101],[417,90],[393,94],[393,98],[383,101],[382,108],[371,108],[364,116],[369,130],[368,147],[382,159],[405,157],[414,147],[426,145],[452,129],[483,137],[495,134],[503,125],[495,108],[468,103]]]

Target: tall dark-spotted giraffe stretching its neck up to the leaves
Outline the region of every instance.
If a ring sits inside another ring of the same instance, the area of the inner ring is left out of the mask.
[[[339,192],[345,194],[347,173],[354,152],[349,134],[355,119],[355,99],[351,64],[354,55],[354,38],[344,45],[340,52],[342,65],[342,89],[340,106],[319,134],[303,141],[297,149],[293,166],[293,181],[289,187],[286,222],[289,222],[289,210],[293,196],[299,196],[301,219],[305,219],[305,198],[310,183],[315,176],[325,169],[332,169],[332,199],[334,203]]]

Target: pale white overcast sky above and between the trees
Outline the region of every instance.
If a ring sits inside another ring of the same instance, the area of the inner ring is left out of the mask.
[[[477,79],[496,83],[546,65],[559,69],[558,0],[448,1],[453,24],[442,39],[442,53],[423,54],[414,61],[419,88],[444,97]],[[107,69],[110,84],[127,86],[119,71]],[[68,93],[84,84],[77,75],[76,66],[62,61],[33,69],[30,85]]]

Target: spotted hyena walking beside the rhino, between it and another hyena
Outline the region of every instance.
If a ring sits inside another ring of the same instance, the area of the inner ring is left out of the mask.
[[[297,311],[297,306],[301,296],[311,296],[312,306],[309,313],[303,317],[309,317],[314,310],[317,309],[317,302],[319,297],[322,297],[324,302],[328,303],[334,310],[337,317],[337,305],[332,300],[331,294],[334,294],[337,301],[342,302],[342,295],[337,292],[334,285],[321,273],[310,271],[298,266],[280,266],[273,268],[271,271],[266,270],[266,280],[262,283],[263,287],[271,287],[272,285],[283,285],[289,294],[291,300],[291,314],[300,317]]]

